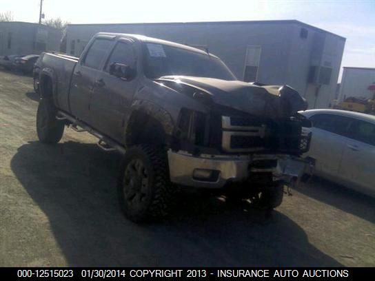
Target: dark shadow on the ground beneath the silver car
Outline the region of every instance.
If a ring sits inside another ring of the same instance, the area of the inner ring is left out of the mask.
[[[316,176],[307,185],[302,185],[296,190],[310,198],[375,223],[375,198]]]

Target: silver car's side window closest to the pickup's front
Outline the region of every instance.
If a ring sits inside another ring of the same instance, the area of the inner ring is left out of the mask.
[[[354,122],[354,119],[334,114],[316,114],[310,117],[312,126],[318,129],[324,129],[327,132],[348,136],[348,129]]]

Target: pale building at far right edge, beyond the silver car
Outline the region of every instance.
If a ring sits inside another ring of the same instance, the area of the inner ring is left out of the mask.
[[[375,92],[375,68],[343,67],[343,78],[338,101],[351,96],[373,98]]]

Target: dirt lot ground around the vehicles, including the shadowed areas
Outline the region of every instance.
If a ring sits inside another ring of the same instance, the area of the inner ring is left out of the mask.
[[[32,79],[0,70],[0,266],[375,266],[375,200],[314,179],[271,218],[181,196],[161,224],[116,200],[119,156],[65,129],[41,145]]]

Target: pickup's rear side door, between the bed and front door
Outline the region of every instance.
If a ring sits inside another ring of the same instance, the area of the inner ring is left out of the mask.
[[[113,37],[97,37],[90,45],[88,52],[74,68],[70,85],[70,112],[81,121],[93,125],[90,120],[90,100],[94,90],[94,81],[103,64]]]

